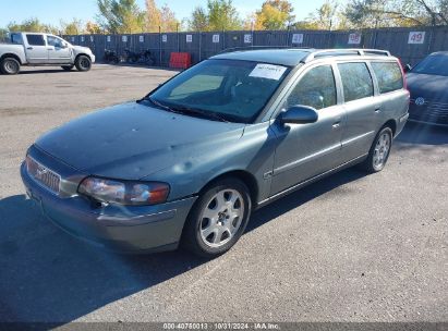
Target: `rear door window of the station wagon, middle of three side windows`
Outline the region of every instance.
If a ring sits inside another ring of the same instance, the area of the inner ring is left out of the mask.
[[[373,96],[373,83],[367,65],[363,62],[339,63],[344,101]]]

